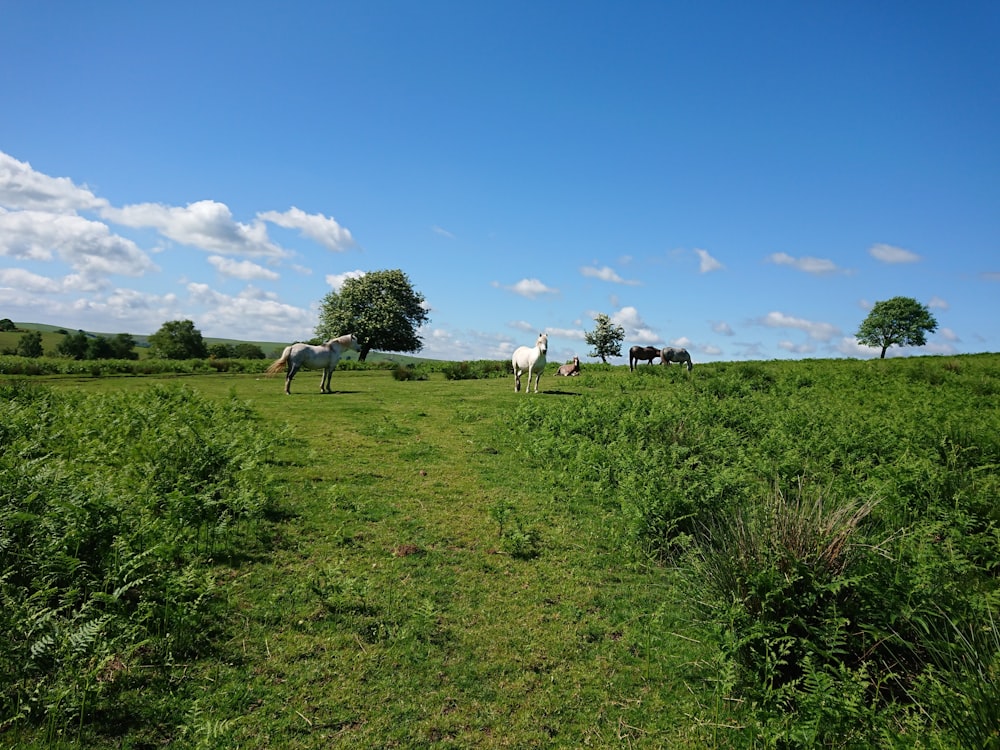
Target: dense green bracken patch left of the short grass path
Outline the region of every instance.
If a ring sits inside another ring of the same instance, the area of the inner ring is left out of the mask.
[[[210,563],[260,547],[280,439],[183,387],[0,386],[0,731],[79,731],[206,653]]]

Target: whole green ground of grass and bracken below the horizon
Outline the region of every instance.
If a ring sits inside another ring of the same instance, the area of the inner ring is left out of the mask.
[[[997,747],[1000,357],[595,364],[530,397],[405,367],[435,377],[6,386],[18,737]],[[275,443],[237,387],[313,449],[275,467],[277,530],[255,515]]]

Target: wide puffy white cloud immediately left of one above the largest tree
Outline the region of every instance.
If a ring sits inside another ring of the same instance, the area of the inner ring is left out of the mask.
[[[137,203],[107,208],[101,215],[122,226],[150,227],[182,245],[210,252],[270,258],[289,255],[270,240],[264,222],[243,224],[235,221],[229,207],[218,201],[197,201],[183,208]]]

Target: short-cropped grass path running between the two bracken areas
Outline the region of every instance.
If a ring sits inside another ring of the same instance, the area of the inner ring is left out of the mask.
[[[522,465],[532,437],[497,429],[514,399],[575,408],[583,378],[530,396],[384,371],[337,372],[325,396],[312,373],[290,397],[280,379],[183,380],[296,439],[273,548],[219,568],[229,641],[178,668],[192,746],[705,746],[707,652],[670,572],[637,569],[602,499],[570,505],[559,467]]]

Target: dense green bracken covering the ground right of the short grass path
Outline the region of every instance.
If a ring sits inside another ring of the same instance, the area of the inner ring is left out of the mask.
[[[508,426],[568,495],[616,509],[636,559],[684,572],[735,733],[870,747],[932,715],[946,746],[1000,742],[995,358],[641,368],[631,385],[572,410],[521,401]]]

